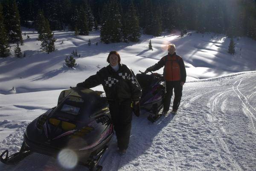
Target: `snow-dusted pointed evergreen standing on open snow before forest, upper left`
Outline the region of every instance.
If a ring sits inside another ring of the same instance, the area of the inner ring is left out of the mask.
[[[41,41],[41,49],[43,51],[49,52],[55,51],[54,42],[56,39],[53,37],[54,34],[52,33],[49,22],[47,19],[45,19],[45,25],[43,26],[41,34],[38,36],[38,40]]]

